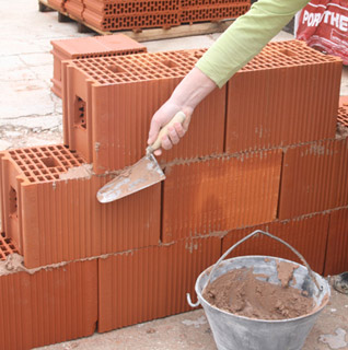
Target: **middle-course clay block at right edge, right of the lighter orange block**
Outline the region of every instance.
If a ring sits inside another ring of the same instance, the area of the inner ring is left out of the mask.
[[[285,152],[279,219],[348,205],[348,139],[312,142]]]

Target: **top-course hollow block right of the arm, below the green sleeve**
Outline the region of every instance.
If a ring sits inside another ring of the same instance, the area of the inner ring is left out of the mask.
[[[340,74],[339,58],[303,42],[268,44],[228,83],[225,151],[334,138]]]

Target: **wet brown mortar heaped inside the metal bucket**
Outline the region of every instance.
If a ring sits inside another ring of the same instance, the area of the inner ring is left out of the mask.
[[[207,285],[202,296],[220,310],[257,319],[294,318],[313,311],[312,298],[301,295],[288,283],[281,284],[258,280],[253,269],[235,269]]]

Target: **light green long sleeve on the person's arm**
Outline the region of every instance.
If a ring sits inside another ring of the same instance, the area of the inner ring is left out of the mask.
[[[308,2],[309,0],[258,0],[219,37],[196,67],[221,88]]]

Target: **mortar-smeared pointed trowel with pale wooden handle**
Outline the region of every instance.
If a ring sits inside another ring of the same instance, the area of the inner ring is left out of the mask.
[[[185,114],[178,112],[173,119],[160,130],[156,140],[147,148],[146,156],[136,164],[123,170],[119,175],[103,186],[96,194],[97,200],[101,203],[108,203],[165,179],[165,175],[155,160],[153,152],[161,147],[161,140],[163,136],[167,135],[167,129],[176,122],[183,124],[185,118]]]

